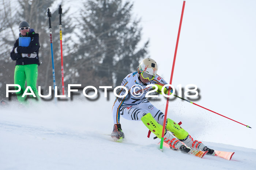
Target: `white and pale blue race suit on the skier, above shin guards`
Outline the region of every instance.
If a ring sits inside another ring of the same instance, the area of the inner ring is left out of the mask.
[[[114,101],[112,107],[114,124],[120,123],[120,115],[128,120],[140,120],[144,115],[150,112],[154,119],[159,124],[163,125],[164,114],[145,97],[146,93],[150,90],[150,87],[146,87],[148,84],[160,84],[164,86],[167,83],[158,75],[148,83],[142,83],[139,80],[138,72],[128,74],[124,78],[121,86],[127,88],[128,94],[123,98],[117,97]],[[167,86],[167,88],[169,88],[169,86]],[[121,88],[121,91],[117,94],[124,95],[124,88]]]

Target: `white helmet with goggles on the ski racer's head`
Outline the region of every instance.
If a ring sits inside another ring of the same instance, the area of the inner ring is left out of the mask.
[[[150,58],[143,59],[137,71],[144,79],[153,80],[157,75],[157,63]]]

